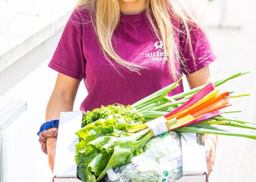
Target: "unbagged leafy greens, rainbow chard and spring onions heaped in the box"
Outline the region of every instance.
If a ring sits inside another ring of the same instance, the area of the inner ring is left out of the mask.
[[[86,182],[99,181],[107,171],[126,165],[134,161],[134,157],[142,155],[150,138],[170,130],[256,139],[255,135],[211,126],[223,124],[256,129],[253,123],[223,117],[225,112],[220,110],[231,106],[230,98],[238,96],[232,96],[231,92],[220,94],[215,88],[246,73],[238,73],[171,97],[166,96],[178,86],[178,80],[131,106],[114,104],[88,111],[82,122],[83,128],[76,132],[79,137],[75,158],[78,176]]]

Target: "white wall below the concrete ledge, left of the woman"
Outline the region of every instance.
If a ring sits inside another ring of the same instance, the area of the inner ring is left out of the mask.
[[[0,72],[0,110],[15,100],[28,104],[28,110],[3,132],[4,182],[46,182],[52,178],[36,133],[45,122],[46,105],[56,81],[57,72],[48,63],[62,31]],[[74,110],[79,110],[86,95],[81,82]]]

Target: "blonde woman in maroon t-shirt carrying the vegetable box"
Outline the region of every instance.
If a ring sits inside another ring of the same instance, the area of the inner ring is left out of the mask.
[[[87,111],[132,104],[183,73],[190,88],[206,84],[215,59],[203,26],[181,0],[79,0],[49,63],[59,74],[46,121],[73,110],[82,79],[88,96],[80,109]],[[169,95],[182,91],[180,85]],[[216,135],[205,136],[208,174],[216,143]],[[55,145],[56,137],[48,137],[52,170]]]

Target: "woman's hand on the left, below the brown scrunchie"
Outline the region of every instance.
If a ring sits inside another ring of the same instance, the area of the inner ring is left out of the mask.
[[[50,166],[50,169],[52,170],[52,172],[53,172],[53,166],[54,166],[56,141],[57,141],[57,137],[48,137],[47,141],[46,141],[48,163],[49,163],[49,166]]]

